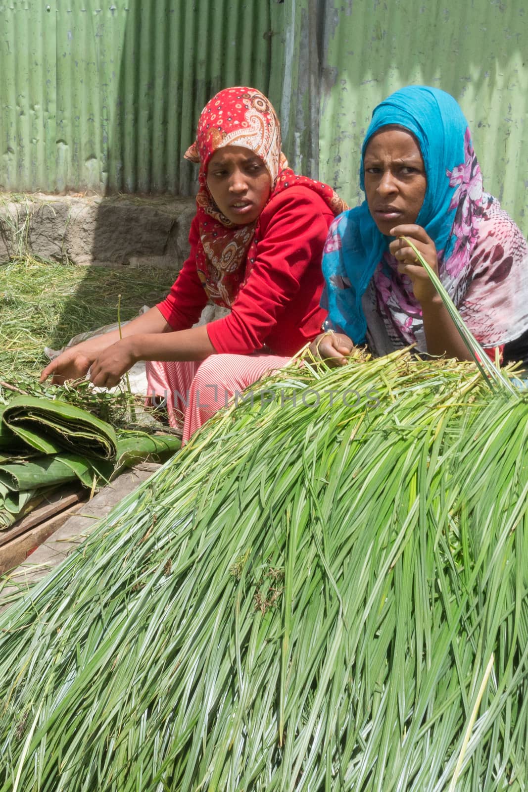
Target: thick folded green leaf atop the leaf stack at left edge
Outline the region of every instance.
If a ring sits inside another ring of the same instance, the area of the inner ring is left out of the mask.
[[[6,427],[41,454],[66,449],[89,459],[116,456],[116,432],[112,426],[66,402],[17,396],[3,410],[2,434]]]

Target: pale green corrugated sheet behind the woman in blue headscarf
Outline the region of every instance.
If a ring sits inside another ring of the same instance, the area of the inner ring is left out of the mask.
[[[351,204],[372,109],[410,83],[438,86],[460,102],[484,188],[528,233],[528,9],[525,0],[301,0],[296,32],[317,64],[319,164]],[[296,102],[295,86],[291,101]],[[287,97],[283,98],[284,103]],[[297,109],[288,109],[293,119]],[[306,116],[305,116],[306,117]],[[310,160],[305,169],[310,169]]]

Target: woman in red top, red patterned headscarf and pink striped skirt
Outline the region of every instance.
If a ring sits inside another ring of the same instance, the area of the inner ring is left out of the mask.
[[[220,91],[199,118],[186,158],[199,162],[191,254],[169,296],[118,331],[83,341],[51,362],[41,381],[87,375],[115,386],[147,362],[149,394],[184,414],[184,440],[321,329],[321,253],[346,204],[328,185],[296,176],[280,149],[279,120],[253,88]],[[192,327],[207,301],[226,317]]]

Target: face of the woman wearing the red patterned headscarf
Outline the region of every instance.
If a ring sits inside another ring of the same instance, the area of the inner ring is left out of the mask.
[[[264,162],[241,146],[215,151],[207,165],[207,187],[222,214],[239,226],[257,219],[272,189]]]

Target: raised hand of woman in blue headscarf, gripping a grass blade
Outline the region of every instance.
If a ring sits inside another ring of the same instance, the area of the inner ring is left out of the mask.
[[[390,231],[391,236],[397,237],[389,245],[389,250],[393,257],[399,261],[398,272],[402,275],[408,275],[412,280],[412,291],[421,306],[428,303],[438,303],[440,300],[439,293],[431,282],[431,278],[427,275],[424,267],[416,260],[416,253],[410,247],[405,239],[407,237],[411,240],[412,244],[416,246],[424,257],[427,264],[431,269],[438,274],[438,258],[436,255],[435,242],[427,234],[426,230],[421,226],[408,225],[408,226],[395,226]]]

